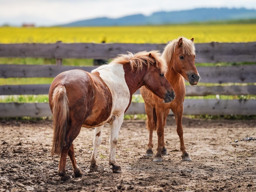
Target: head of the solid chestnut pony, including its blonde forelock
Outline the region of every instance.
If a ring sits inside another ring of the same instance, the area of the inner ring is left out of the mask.
[[[195,67],[195,45],[194,38],[191,40],[180,37],[169,42],[162,54],[169,70],[175,70],[181,74],[190,85],[197,85],[200,76]]]

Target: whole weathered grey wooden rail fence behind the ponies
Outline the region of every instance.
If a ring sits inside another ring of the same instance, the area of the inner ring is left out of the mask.
[[[110,59],[126,51],[163,50],[166,44],[0,44],[0,57],[55,58],[57,65],[0,64],[0,78],[55,77],[62,71],[94,67],[62,66],[62,58]],[[196,63],[255,62],[256,42],[195,44]],[[186,96],[256,95],[256,65],[197,67],[201,81],[186,86]],[[207,83],[214,83],[209,86]],[[202,84],[202,85],[200,85]],[[48,94],[50,85],[2,85],[0,95]],[[139,91],[136,92],[139,94]],[[126,114],[144,114],[144,103],[131,103]],[[184,114],[255,115],[256,100],[186,99]],[[0,117],[51,116],[48,103],[0,103]]]

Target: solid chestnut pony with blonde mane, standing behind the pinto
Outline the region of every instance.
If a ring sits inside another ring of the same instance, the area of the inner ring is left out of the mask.
[[[186,152],[183,139],[182,114],[183,101],[185,97],[184,78],[189,81],[190,85],[197,85],[200,76],[195,67],[195,46],[193,38],[188,40],[184,37],[173,40],[166,45],[162,57],[168,65],[166,78],[175,90],[175,100],[171,103],[163,103],[155,94],[150,92],[146,87],[141,87],[141,96],[144,98],[145,109],[147,114],[146,125],[149,130],[149,142],[146,156],[153,156],[153,130],[157,130],[157,153],[153,161],[162,161],[162,154],[168,154],[164,143],[164,126],[166,117],[170,109],[175,115],[177,125],[177,134],[180,137],[180,150],[182,151],[182,160],[191,161],[189,154]]]

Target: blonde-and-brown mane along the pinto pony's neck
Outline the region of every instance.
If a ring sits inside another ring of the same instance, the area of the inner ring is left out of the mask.
[[[141,51],[136,54],[132,54],[130,52],[128,52],[128,54],[119,54],[115,59],[111,61],[111,63],[119,63],[122,65],[130,63],[132,71],[134,67],[136,67],[137,70],[142,70],[143,65],[146,65],[148,68],[150,65],[155,65],[163,73],[166,73],[168,70],[166,61],[161,57],[160,52],[156,50]]]

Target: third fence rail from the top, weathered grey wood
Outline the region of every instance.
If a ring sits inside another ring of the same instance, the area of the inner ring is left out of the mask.
[[[1,85],[0,95],[40,95],[48,94],[50,84],[42,85]],[[140,94],[139,89],[135,94]],[[206,95],[256,95],[256,86],[191,86],[186,85],[186,96]]]

